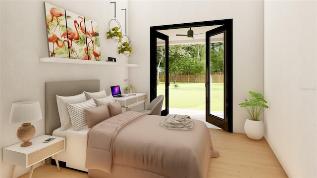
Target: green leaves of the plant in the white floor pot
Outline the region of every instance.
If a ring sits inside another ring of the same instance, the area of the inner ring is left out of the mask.
[[[264,97],[261,93],[249,91],[251,99],[245,99],[245,102],[240,103],[240,107],[244,107],[247,109],[250,117],[254,121],[258,121],[260,115],[264,112],[268,106],[265,104],[267,103],[264,100]]]

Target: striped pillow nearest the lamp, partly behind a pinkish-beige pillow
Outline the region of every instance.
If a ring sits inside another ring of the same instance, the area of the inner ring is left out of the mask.
[[[75,104],[67,103],[70,122],[75,131],[78,131],[82,127],[87,126],[86,114],[84,109],[93,107],[97,107],[93,99]]]

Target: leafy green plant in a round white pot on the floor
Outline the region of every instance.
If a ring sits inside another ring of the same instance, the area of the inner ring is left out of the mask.
[[[249,91],[249,94],[252,98],[239,104],[246,108],[251,117],[246,120],[244,131],[249,138],[259,140],[264,136],[264,123],[259,117],[268,106],[261,93]]]

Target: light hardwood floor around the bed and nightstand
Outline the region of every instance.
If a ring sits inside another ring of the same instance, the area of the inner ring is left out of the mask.
[[[287,178],[266,140],[252,140],[245,134],[209,129],[213,147],[219,152],[212,158],[208,178]],[[25,174],[19,178],[28,178]],[[34,170],[32,178],[89,178],[86,173],[45,165]]]

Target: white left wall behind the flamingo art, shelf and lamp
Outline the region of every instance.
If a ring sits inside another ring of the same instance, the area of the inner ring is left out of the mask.
[[[96,1],[53,1],[57,6],[86,16],[98,22],[102,60],[116,57],[118,63],[128,63],[128,58],[117,53],[118,44],[106,39],[108,21],[114,17],[114,4],[109,0]],[[125,26],[128,1],[116,2],[116,19]],[[101,89],[110,94],[111,85],[124,87],[129,78],[129,68],[120,66],[98,66],[39,62],[39,57],[48,57],[47,31],[43,1],[21,0],[0,1],[1,13],[1,63],[0,63],[0,135],[2,148],[19,142],[16,130],[20,125],[9,124],[11,105],[14,102],[38,100],[45,116],[45,82],[100,79]],[[129,11],[127,11],[129,14]],[[129,16],[127,16],[128,18]],[[127,28],[127,31],[129,28]],[[44,119],[32,123],[36,136],[44,134]],[[1,178],[8,178],[11,165],[1,158]],[[16,167],[14,177],[21,176],[29,169]]]

